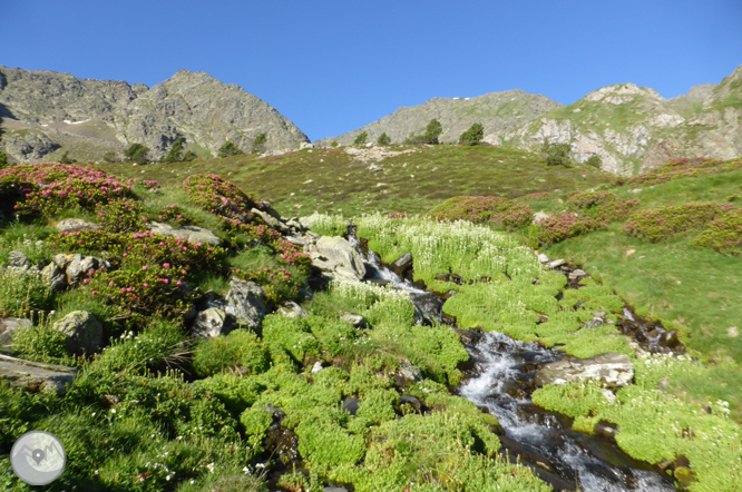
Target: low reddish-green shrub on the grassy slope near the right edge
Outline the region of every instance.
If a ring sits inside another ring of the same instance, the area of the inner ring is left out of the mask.
[[[629,236],[657,243],[690,229],[704,228],[716,217],[734,209],[730,204],[685,204],[638,210],[632,214],[624,230]]]

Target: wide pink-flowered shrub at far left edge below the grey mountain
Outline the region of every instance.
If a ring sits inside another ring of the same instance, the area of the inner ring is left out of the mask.
[[[0,183],[12,181],[28,185],[14,206],[17,213],[47,217],[66,208],[91,210],[96,204],[130,197],[134,183],[107,177],[100,170],[55,163],[23,164],[0,170]]]

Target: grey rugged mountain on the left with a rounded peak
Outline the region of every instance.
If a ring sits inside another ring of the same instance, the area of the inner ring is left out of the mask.
[[[250,150],[260,134],[265,148],[299,148],[306,136],[266,102],[204,72],[180,70],[149,89],[68,73],[0,67],[2,145],[18,161],[69,150],[100,159],[131,144],[163,156],[178,137],[202,156],[228,139]],[[59,149],[59,150],[58,150]]]

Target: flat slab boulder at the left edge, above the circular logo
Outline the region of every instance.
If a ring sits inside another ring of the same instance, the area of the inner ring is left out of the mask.
[[[0,355],[0,381],[31,391],[62,396],[72,384],[77,370]]]

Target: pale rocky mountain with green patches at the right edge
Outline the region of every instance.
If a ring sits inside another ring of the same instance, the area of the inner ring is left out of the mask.
[[[742,66],[719,86],[705,83],[664,99],[633,83],[608,86],[508,132],[505,145],[536,150],[569,144],[584,163],[598,156],[616,175],[646,173],[681,157],[742,155]]]

